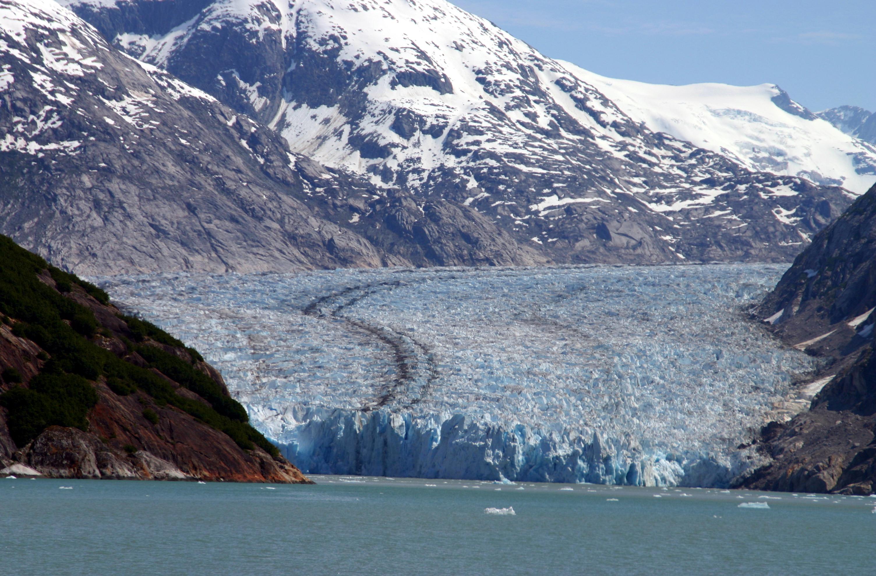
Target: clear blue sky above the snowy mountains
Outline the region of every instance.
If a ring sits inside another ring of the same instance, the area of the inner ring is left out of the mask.
[[[541,53],[661,84],[771,82],[876,111],[876,0],[451,0]]]

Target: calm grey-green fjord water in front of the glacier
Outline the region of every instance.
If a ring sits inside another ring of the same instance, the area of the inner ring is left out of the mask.
[[[876,498],[314,480],[0,480],[0,573],[876,573]]]

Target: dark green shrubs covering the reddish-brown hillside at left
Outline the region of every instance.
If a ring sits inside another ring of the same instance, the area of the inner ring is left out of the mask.
[[[48,270],[58,290],[39,279],[44,270]],[[50,425],[86,430],[86,416],[97,402],[96,390],[89,381],[103,376],[109,389],[120,396],[139,390],[159,406],[170,404],[224,432],[241,448],[250,450],[257,445],[273,456],[279,455],[277,447],[248,424],[244,407],[226,396],[219,383],[194,365],[202,361],[201,355],[185,348],[159,327],[136,318],[120,316],[133,341],[124,334],[110,333],[91,310],[65,296],[76,286],[102,304],[109,302],[107,293],[94,284],[49,266],[39,256],[0,235],[0,316],[16,320],[13,334],[36,342],[50,355],[39,376],[32,378],[26,388],[17,385],[0,395],[0,405],[9,412],[10,432],[17,446],[25,446]],[[98,334],[121,338],[128,352],[143,357],[147,366],[126,362],[101,348],[95,343],[101,337]],[[161,345],[187,350],[190,362]],[[209,405],[180,396],[171,383],[150,369],[157,369],[192,390]],[[4,372],[4,382],[13,381],[12,373]],[[145,418],[155,424],[157,416],[150,410]]]

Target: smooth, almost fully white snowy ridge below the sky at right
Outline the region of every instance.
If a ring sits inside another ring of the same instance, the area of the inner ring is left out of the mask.
[[[858,194],[876,183],[876,146],[853,130],[837,130],[830,118],[816,116],[773,84],[662,86],[566,67],[651,130],[752,171],[802,176]]]

